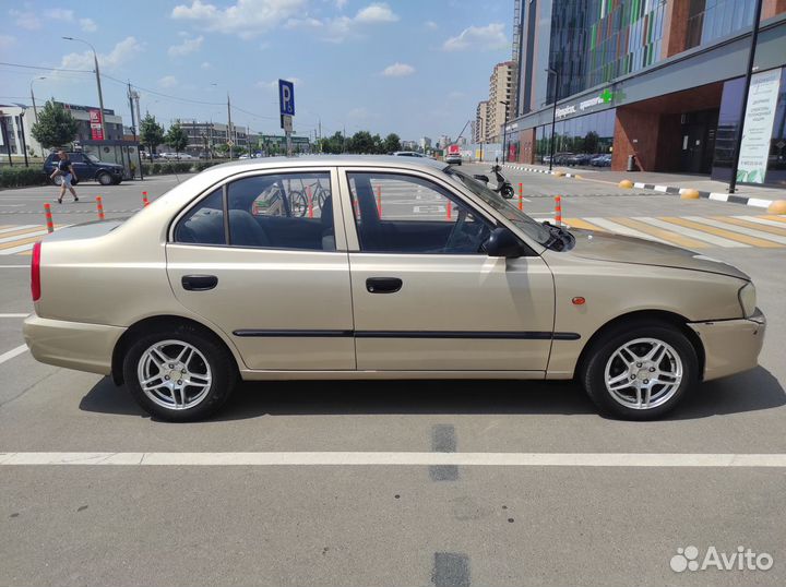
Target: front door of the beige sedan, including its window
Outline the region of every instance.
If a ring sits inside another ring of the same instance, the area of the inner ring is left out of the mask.
[[[546,370],[553,281],[539,256],[487,256],[492,223],[426,175],[345,179],[358,369]]]

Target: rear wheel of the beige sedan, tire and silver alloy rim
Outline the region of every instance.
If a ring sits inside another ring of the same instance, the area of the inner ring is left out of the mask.
[[[179,359],[183,350],[188,355]],[[205,419],[224,405],[237,385],[238,370],[221,342],[183,324],[134,340],[126,352],[123,379],[147,414],[170,422],[188,422]],[[143,390],[145,381],[148,383]]]

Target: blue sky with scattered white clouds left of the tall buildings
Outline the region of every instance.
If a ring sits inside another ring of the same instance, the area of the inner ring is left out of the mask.
[[[228,93],[235,124],[279,134],[286,79],[297,134],[455,139],[510,59],[512,21],[513,0],[0,0],[0,103],[29,104],[33,82],[38,106],[97,106],[93,53],[64,35],[95,47],[104,106],[127,125],[130,80],[167,127],[225,122]]]

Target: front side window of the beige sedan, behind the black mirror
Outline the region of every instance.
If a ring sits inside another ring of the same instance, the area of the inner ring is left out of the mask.
[[[431,181],[397,173],[348,173],[364,252],[485,254],[489,224]]]

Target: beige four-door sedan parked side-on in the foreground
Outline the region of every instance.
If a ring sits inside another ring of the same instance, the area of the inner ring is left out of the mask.
[[[413,192],[426,209],[382,212]],[[166,420],[207,417],[239,380],[574,378],[644,420],[755,367],[765,331],[734,266],[541,224],[419,157],[211,167],[128,220],[45,237],[32,296],[37,360],[111,375]]]

